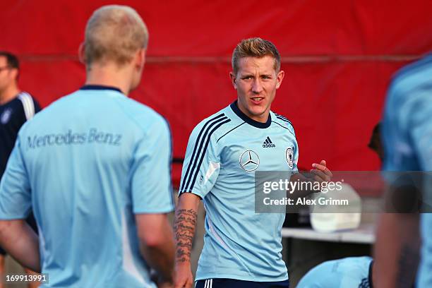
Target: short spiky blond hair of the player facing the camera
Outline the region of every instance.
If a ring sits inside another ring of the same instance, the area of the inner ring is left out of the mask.
[[[279,51],[277,51],[275,44],[259,37],[241,40],[234,49],[234,52],[232,52],[231,64],[234,74],[239,71],[239,59],[244,57],[261,58],[263,56],[272,56],[275,59],[275,71],[279,72],[280,54]]]

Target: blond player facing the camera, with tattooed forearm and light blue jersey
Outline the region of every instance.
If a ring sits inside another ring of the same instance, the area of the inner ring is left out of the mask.
[[[197,288],[289,287],[282,260],[284,213],[255,213],[255,172],[298,173],[294,128],[270,111],[284,71],[274,44],[260,38],[241,41],[232,56],[237,100],[193,129],[176,208],[176,288],[193,285],[191,246],[196,211],[206,211],[204,248]],[[329,181],[325,161],[313,164],[316,181]]]

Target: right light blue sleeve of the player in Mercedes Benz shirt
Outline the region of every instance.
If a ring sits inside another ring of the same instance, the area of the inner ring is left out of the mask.
[[[174,210],[171,164],[172,140],[166,121],[158,119],[137,145],[131,169],[133,212]]]

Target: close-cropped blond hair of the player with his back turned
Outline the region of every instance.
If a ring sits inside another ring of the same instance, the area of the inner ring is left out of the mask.
[[[133,8],[102,6],[93,12],[85,27],[85,64],[115,61],[122,66],[147,44],[147,27]]]

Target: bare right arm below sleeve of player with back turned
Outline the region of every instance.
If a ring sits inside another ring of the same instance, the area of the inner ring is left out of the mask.
[[[160,283],[173,282],[174,235],[166,214],[135,215],[140,251]]]

